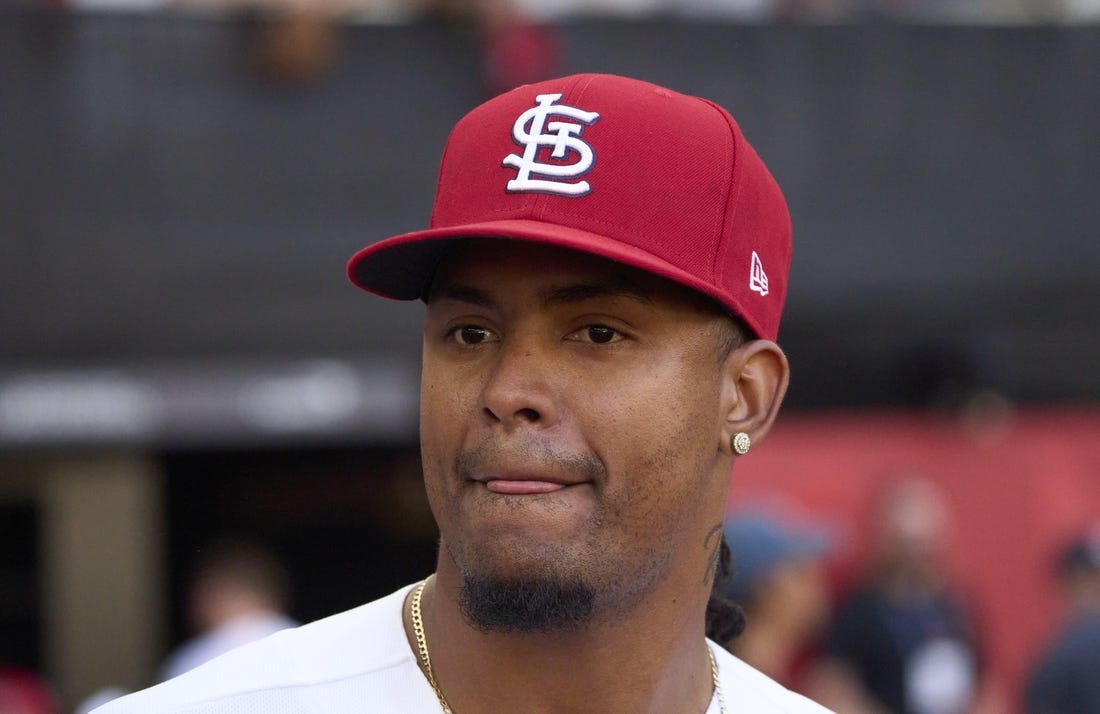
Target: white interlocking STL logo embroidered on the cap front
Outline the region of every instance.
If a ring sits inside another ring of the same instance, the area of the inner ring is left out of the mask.
[[[576,107],[556,105],[561,95],[539,95],[535,98],[536,106],[519,114],[512,127],[512,138],[524,146],[524,155],[508,154],[504,166],[518,171],[515,178],[508,182],[508,193],[535,191],[539,194],[560,194],[562,196],[584,196],[592,190],[588,182],[566,182],[565,178],[579,178],[586,174],[596,161],[596,155],[586,142],[580,139],[585,127],[593,124],[600,114],[594,111],[583,111]],[[547,121],[550,117],[565,117],[580,123],[566,121]],[[543,133],[543,130],[549,133]],[[540,162],[539,149],[550,149],[550,157],[563,160],[569,152],[576,154],[572,164]],[[531,175],[538,178],[531,178]]]

